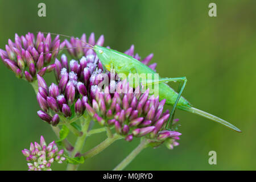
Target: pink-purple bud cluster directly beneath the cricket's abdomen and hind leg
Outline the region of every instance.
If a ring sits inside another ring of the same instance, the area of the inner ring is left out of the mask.
[[[96,72],[94,77],[100,75]],[[168,148],[177,146],[175,140],[178,140],[181,134],[164,130],[170,117],[168,110],[163,112],[166,100],[159,101],[159,97],[149,96],[148,89],[144,93],[140,91],[139,86],[133,89],[126,80],[114,82],[104,90],[90,81],[92,102],[86,103],[85,106],[94,121],[102,126],[114,126],[116,133],[125,136],[127,141],[145,136],[154,143],[165,142]],[[117,89],[111,94],[109,90],[113,88],[120,88],[122,92]]]

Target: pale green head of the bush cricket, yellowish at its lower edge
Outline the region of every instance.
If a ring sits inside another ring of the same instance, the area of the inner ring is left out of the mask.
[[[109,70],[110,69],[110,49],[101,47],[101,46],[94,46],[94,51],[96,52],[98,59],[100,59],[101,63]]]

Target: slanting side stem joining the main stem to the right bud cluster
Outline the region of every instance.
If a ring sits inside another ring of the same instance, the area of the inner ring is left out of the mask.
[[[123,138],[121,135],[114,134],[112,138],[107,138],[100,144],[98,144],[96,147],[92,148],[91,150],[85,152],[82,154],[84,156],[84,159],[92,158],[94,155],[99,154],[101,151],[103,151],[105,148],[110,146],[115,140]]]

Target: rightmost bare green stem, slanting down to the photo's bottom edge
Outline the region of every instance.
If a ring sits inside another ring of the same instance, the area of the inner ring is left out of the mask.
[[[147,139],[143,139],[141,143],[125,159],[123,159],[117,167],[113,169],[113,171],[121,171],[124,169],[139,154],[139,152],[146,148],[148,143]]]

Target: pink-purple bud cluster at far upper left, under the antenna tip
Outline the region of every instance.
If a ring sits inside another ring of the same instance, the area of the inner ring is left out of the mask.
[[[52,40],[51,34],[44,37],[41,32],[36,38],[30,32],[25,36],[15,34],[15,42],[9,39],[6,50],[0,49],[0,56],[17,77],[22,78],[24,75],[28,82],[32,82],[36,74],[43,76],[55,68],[55,64],[50,64],[51,60],[64,46],[65,42],[60,43],[59,35]]]

